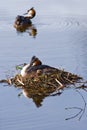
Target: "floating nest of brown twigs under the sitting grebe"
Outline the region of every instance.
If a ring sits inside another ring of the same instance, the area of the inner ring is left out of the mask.
[[[64,70],[58,70],[53,73],[37,75],[30,78],[22,78],[20,74],[15,75],[10,79],[10,84],[15,87],[26,88],[63,88],[67,85],[74,84],[78,80],[82,79],[80,76],[65,72]]]

